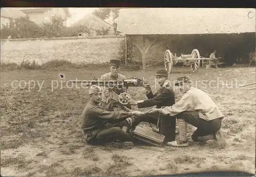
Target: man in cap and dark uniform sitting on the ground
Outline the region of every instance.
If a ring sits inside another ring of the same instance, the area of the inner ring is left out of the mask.
[[[81,124],[84,138],[89,144],[104,145],[111,143],[116,148],[132,148],[134,144],[127,132],[132,124],[132,116],[142,116],[139,111],[109,112],[99,106],[102,99],[101,88],[93,85],[90,88],[90,102],[84,108],[81,116]],[[119,122],[107,125],[108,121],[119,120]]]

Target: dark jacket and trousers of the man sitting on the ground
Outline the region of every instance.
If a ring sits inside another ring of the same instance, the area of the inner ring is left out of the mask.
[[[119,112],[103,110],[94,101],[90,101],[83,109],[81,116],[84,138],[93,145],[100,145],[117,139],[127,139],[129,135],[121,130],[121,127],[130,127],[125,119],[131,117],[131,115],[132,113],[124,110]],[[107,126],[107,122],[112,120],[120,120],[120,122]]]

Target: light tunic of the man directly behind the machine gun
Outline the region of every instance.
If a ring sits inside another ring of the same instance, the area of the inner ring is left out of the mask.
[[[106,73],[104,75],[101,76],[100,80],[121,80],[124,79],[125,76],[118,74],[117,76],[112,75],[110,72]],[[125,88],[123,89],[123,91],[125,91]],[[114,92],[116,94],[120,94],[119,91],[117,89],[114,89]],[[108,109],[108,110],[113,110],[113,108],[110,106],[110,102],[108,100],[109,98],[109,88],[108,87],[103,87],[102,89],[102,103],[101,106],[103,109]]]

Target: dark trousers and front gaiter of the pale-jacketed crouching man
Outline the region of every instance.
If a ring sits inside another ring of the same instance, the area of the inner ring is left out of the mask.
[[[197,130],[193,132],[191,139],[193,141],[201,141],[200,137],[215,134],[215,132],[221,128],[221,120],[222,118],[206,121],[204,119],[201,119],[199,117],[199,113],[196,111],[182,112],[177,115],[177,123],[180,129],[181,136],[180,138],[182,141],[186,141],[186,124],[184,124],[186,122],[197,127]],[[184,132],[184,135],[182,134],[182,132]]]

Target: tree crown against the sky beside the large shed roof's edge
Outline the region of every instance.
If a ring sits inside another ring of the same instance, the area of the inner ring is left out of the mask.
[[[94,15],[100,17],[101,19],[110,18],[112,24],[117,24],[116,19],[119,16],[119,10],[121,8],[99,8],[93,12]]]

